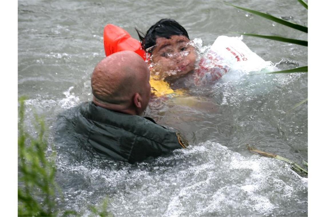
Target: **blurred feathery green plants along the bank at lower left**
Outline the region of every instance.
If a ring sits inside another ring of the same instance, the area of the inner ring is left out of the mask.
[[[48,144],[44,119],[35,114],[37,136],[31,136],[24,126],[25,97],[19,99],[18,120],[18,216],[81,216],[75,210],[60,210],[57,198],[63,198],[55,182],[55,150]],[[88,209],[96,216],[112,216],[108,199]]]

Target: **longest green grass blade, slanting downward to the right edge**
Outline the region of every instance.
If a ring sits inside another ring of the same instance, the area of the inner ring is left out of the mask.
[[[289,21],[286,21],[286,20],[282,20],[282,19],[274,17],[272,15],[262,13],[262,12],[259,12],[259,11],[256,11],[256,10],[251,10],[249,8],[232,5],[232,4],[227,3],[227,2],[225,2],[225,4],[230,5],[232,7],[236,7],[236,8],[241,9],[241,10],[245,10],[245,11],[247,11],[249,13],[252,13],[252,14],[256,14],[256,15],[258,15],[260,17],[263,17],[263,18],[268,19],[268,20],[272,20],[272,21],[280,23],[282,25],[289,26],[289,27],[291,27],[293,29],[300,30],[302,32],[308,33],[308,27],[306,27],[306,26],[302,26],[302,25],[292,23],[292,22],[289,22]]]

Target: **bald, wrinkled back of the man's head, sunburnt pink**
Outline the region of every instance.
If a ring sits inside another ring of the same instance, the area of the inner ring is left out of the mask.
[[[144,86],[148,83],[148,76],[146,63],[135,52],[121,51],[111,54],[100,61],[93,71],[93,101],[120,107],[132,106],[135,93],[147,95],[148,88]]]

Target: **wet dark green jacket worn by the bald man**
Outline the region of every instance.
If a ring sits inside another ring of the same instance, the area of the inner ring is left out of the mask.
[[[111,111],[93,102],[82,103],[77,111],[76,132],[99,154],[112,159],[134,163],[188,145],[180,133],[151,118]]]

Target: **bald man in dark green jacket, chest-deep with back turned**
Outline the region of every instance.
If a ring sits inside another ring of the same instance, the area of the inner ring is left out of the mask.
[[[151,93],[149,70],[132,51],[100,61],[92,74],[93,101],[78,107],[75,130],[100,155],[134,163],[185,148],[180,133],[166,129],[145,111]]]

